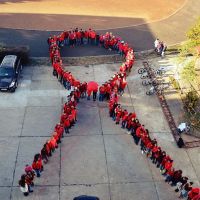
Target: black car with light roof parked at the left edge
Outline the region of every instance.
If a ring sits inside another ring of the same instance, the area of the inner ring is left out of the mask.
[[[18,56],[5,56],[0,65],[0,90],[14,92],[21,70],[21,59]]]

